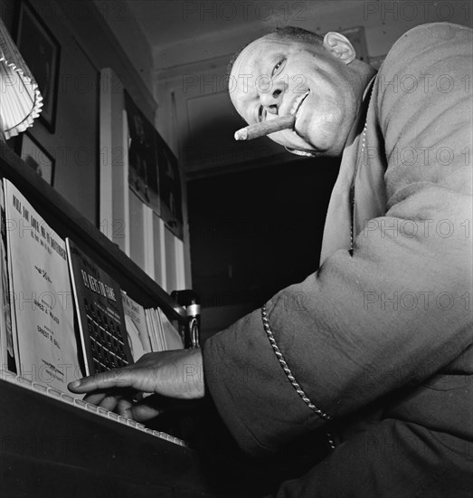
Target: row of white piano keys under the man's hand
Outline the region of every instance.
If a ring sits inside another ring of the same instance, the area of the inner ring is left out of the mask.
[[[160,431],[156,431],[153,429],[149,429],[149,428],[147,428],[147,426],[144,426],[143,424],[138,424],[137,422],[135,422],[135,420],[131,420],[131,419],[126,418],[126,417],[120,417],[118,414],[116,414],[114,412],[110,412],[109,410],[106,410],[105,408],[96,407],[95,405],[92,405],[91,403],[86,403],[85,401],[82,401],[81,399],[72,397],[68,394],[65,394],[61,391],[58,391],[57,389],[48,388],[48,387],[44,386],[43,384],[40,384],[38,382],[33,382],[29,378],[24,378],[24,377],[21,377],[19,375],[16,375],[9,370],[0,369],[0,379],[6,380],[7,382],[10,382],[16,386],[20,386],[22,388],[41,393],[44,396],[52,397],[54,399],[59,399],[63,403],[67,403],[68,405],[72,405],[74,407],[80,408],[82,410],[86,410],[86,411],[91,412],[91,413],[95,413],[99,417],[108,418],[109,420],[113,420],[114,422],[116,422],[118,424],[132,427],[132,428],[137,429],[139,431],[145,432],[145,433],[149,434],[150,436],[159,437],[160,439],[165,439],[166,441],[168,441],[170,443],[174,443],[175,445],[187,447],[187,445],[184,443],[184,441],[182,439],[179,439],[178,437],[166,434],[166,432],[160,432]]]

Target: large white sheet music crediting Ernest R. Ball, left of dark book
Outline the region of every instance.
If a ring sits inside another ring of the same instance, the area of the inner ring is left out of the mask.
[[[67,384],[82,375],[65,243],[10,181],[4,188],[17,373],[68,392]]]

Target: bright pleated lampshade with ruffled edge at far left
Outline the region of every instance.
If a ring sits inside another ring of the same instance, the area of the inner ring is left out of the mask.
[[[32,126],[42,106],[38,84],[0,19],[0,139]]]

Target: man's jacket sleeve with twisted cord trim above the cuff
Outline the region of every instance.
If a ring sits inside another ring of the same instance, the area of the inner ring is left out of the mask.
[[[471,31],[451,24],[421,26],[394,45],[378,77],[407,85],[424,75],[430,87],[380,85],[374,97],[386,213],[369,220],[352,254],[331,254],[266,305],[312,407],[261,311],[204,344],[207,388],[243,449],[275,450],[430,377],[472,343],[471,60]]]

